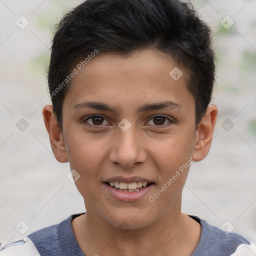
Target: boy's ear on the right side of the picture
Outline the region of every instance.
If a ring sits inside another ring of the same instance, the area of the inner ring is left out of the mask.
[[[209,152],[213,131],[217,119],[218,108],[215,105],[208,105],[205,115],[202,116],[195,131],[195,145],[193,160],[202,160]],[[195,157],[195,155],[197,157]]]

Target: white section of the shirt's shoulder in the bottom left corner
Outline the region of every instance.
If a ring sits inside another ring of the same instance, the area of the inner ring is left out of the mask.
[[[32,241],[25,237],[21,240],[10,242],[0,249],[0,256],[39,256]]]

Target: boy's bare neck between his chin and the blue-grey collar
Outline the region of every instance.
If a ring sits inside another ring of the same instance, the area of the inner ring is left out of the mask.
[[[200,237],[200,224],[179,212],[165,214],[140,229],[119,229],[87,210],[72,221],[85,255],[190,255]]]

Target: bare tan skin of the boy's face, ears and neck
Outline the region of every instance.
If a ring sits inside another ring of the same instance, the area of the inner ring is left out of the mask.
[[[195,125],[195,102],[186,87],[185,69],[178,66],[183,75],[176,81],[169,75],[176,66],[171,57],[151,49],[129,57],[98,55],[72,79],[63,101],[62,132],[52,106],[43,108],[56,159],[69,161],[80,175],[75,185],[86,214],[74,218],[72,228],[86,256],[184,256],[199,241],[200,224],[180,212],[189,167],[154,202],[148,199],[196,152],[194,161],[207,155],[216,122],[217,107],[209,105]],[[81,107],[88,100],[116,111]],[[136,112],[143,104],[167,100],[179,106]],[[74,107],[77,104],[80,107]],[[86,121],[91,114],[103,119]],[[152,118],[158,115],[173,122],[160,118],[159,125],[159,119]],[[131,124],[126,131],[118,126],[123,118]],[[155,184],[137,201],[120,201],[103,185],[113,176],[140,176]]]

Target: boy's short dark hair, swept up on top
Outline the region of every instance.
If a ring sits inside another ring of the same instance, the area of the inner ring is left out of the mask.
[[[92,52],[129,56],[147,48],[167,53],[185,68],[186,85],[194,97],[198,124],[211,100],[215,79],[210,32],[190,2],[84,1],[64,15],[52,40],[48,86],[61,129],[62,102],[70,83],[67,76],[80,60],[84,59],[80,63],[86,64],[85,57]]]

